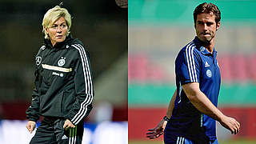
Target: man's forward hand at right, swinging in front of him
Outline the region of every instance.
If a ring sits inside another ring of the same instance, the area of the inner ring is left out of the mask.
[[[219,121],[222,126],[231,131],[231,134],[238,134],[240,129],[240,123],[234,118],[227,117],[224,115]]]

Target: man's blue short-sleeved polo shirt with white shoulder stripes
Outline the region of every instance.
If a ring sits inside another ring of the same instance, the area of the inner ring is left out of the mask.
[[[177,97],[165,135],[182,136],[198,140],[216,139],[216,122],[202,114],[187,98],[182,85],[198,82],[202,93],[217,106],[221,75],[217,62],[217,52],[211,54],[200,44],[198,37],[180,50],[175,60]]]

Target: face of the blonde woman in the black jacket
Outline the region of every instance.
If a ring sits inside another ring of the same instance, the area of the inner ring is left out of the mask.
[[[58,18],[52,26],[46,27],[46,33],[49,34],[50,42],[54,46],[57,42],[63,42],[66,39],[67,25],[65,18]]]

